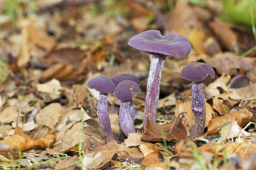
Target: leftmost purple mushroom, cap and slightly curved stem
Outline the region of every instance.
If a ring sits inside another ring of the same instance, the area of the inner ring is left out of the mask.
[[[115,84],[107,76],[101,75],[90,79],[87,86],[100,92],[97,106],[98,119],[106,140],[116,140],[111,131],[111,123],[108,115],[108,94],[112,94],[115,91]]]

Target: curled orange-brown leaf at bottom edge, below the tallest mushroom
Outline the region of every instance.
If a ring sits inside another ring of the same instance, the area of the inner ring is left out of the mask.
[[[151,167],[167,169],[168,165],[164,163],[164,157],[159,151],[149,153],[141,162],[141,168],[143,170]]]

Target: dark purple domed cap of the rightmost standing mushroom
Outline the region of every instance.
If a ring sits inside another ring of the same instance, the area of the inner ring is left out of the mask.
[[[182,78],[191,82],[200,82],[210,76],[214,78],[213,68],[206,63],[193,62],[182,69]]]

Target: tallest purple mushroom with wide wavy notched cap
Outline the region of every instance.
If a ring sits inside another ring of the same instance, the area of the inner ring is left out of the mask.
[[[147,119],[156,123],[161,75],[166,57],[169,55],[187,56],[190,54],[191,44],[182,35],[170,33],[164,37],[158,30],[148,30],[137,34],[130,39],[128,44],[137,50],[152,54],[145,96],[143,118],[143,128],[145,131]]]

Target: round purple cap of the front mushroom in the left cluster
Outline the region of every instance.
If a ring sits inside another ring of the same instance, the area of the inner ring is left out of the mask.
[[[136,94],[140,94],[140,87],[131,80],[124,80],[116,86],[115,96],[119,100],[129,100]]]

